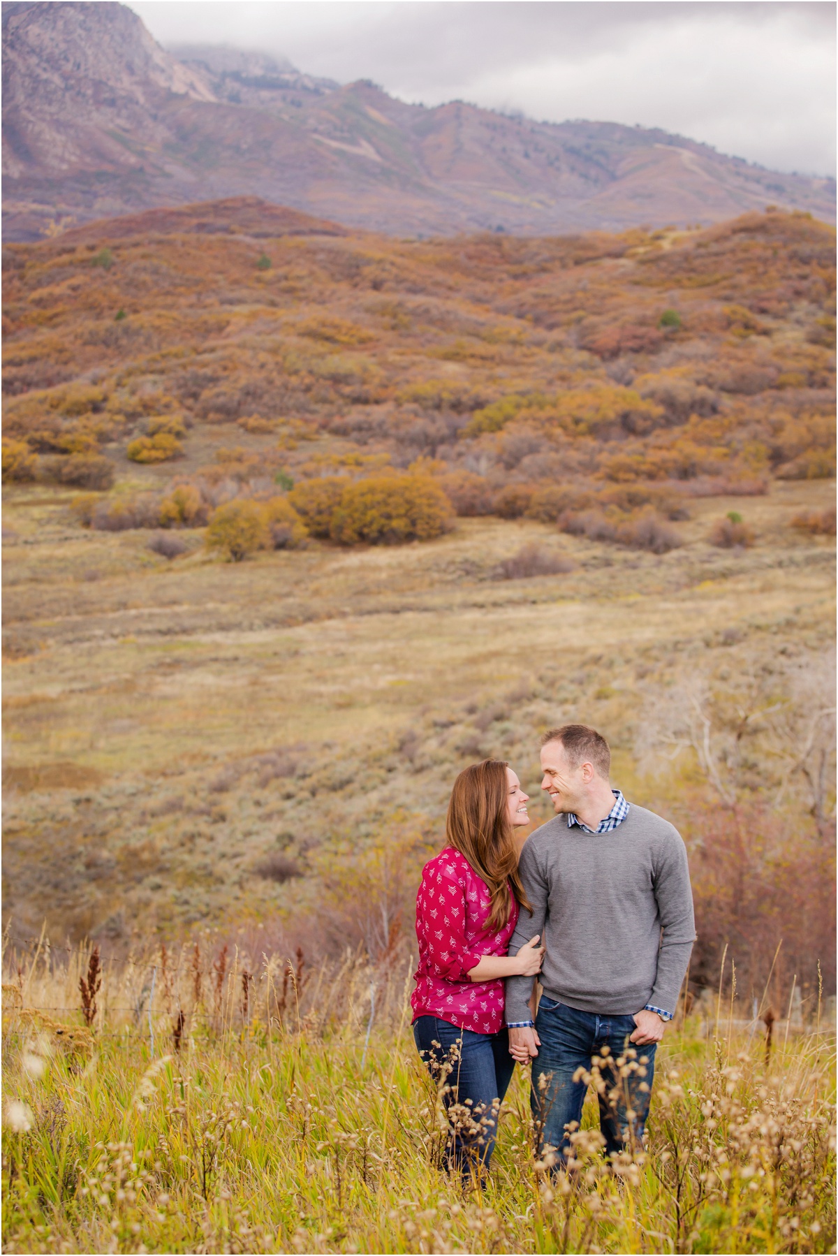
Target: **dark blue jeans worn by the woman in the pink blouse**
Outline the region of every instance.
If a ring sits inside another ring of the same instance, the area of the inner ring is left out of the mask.
[[[436,1016],[420,1016],[413,1037],[449,1112],[447,1168],[481,1181],[498,1137],[498,1109],[515,1068],[509,1034],[506,1029],[475,1034]]]

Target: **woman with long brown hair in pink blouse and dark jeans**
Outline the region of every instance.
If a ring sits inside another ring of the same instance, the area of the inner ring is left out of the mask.
[[[514,830],[529,824],[528,800],[505,762],[486,759],[460,772],[446,845],[422,869],[416,898],[413,1037],[449,1109],[449,1166],[480,1179],[515,1068],[504,1026],[504,977],[534,977],[544,956],[538,936],[516,956],[506,955],[519,907],[529,909],[514,839]]]

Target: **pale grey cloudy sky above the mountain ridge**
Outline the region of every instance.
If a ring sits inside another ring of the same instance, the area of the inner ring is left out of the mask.
[[[136,0],[162,44],[285,57],[403,100],[663,127],[774,170],[835,172],[833,3]]]

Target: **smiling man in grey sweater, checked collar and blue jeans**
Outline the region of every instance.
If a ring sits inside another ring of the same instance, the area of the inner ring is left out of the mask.
[[[593,728],[568,723],[544,735],[541,789],[557,815],[529,838],[519,864],[533,914],[521,911],[509,953],[534,933],[547,952],[535,1022],[533,978],[506,981],[509,1049],[521,1064],[533,1059],[533,1115],[559,1163],[570,1148],[565,1127],[582,1119],[578,1073],[589,1073],[594,1056],[603,1060],[607,1154],[641,1144],[655,1051],[695,941],[683,842],[612,790],[609,770],[608,742]]]

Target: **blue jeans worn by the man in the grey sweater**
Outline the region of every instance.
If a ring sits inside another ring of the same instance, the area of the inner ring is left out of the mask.
[[[536,1128],[540,1127],[540,1145],[554,1147],[559,1164],[567,1162],[570,1139],[565,1125],[577,1122],[578,1128],[588,1089],[583,1080],[574,1081],[574,1074],[580,1068],[589,1073],[592,1056],[602,1055],[602,1049],[607,1046],[608,1056],[614,1061],[623,1056],[627,1048],[636,1050],[639,1069],[621,1078],[616,1065],[601,1065],[606,1093],[598,1096],[599,1129],[606,1139],[606,1154],[624,1148],[639,1149],[648,1117],[657,1044],[636,1048],[628,1041],[636,1029],[633,1016],[597,1016],[544,996],[535,1027],[541,1045],[533,1060],[530,1099],[533,1118]],[[541,1076],[548,1079],[543,1088],[539,1086]],[[609,1102],[609,1093],[614,1090],[618,1094]]]

